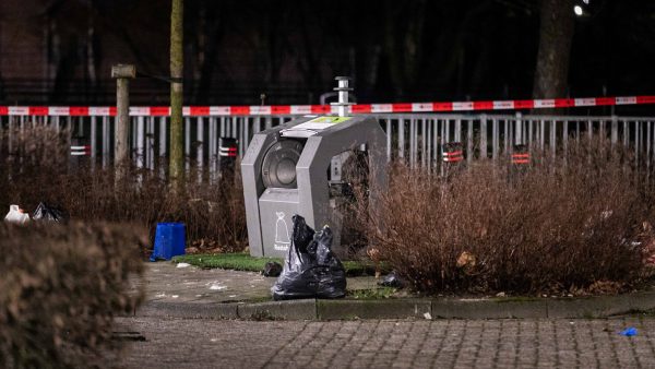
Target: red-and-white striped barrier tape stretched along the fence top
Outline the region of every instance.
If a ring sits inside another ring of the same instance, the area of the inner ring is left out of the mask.
[[[347,108],[350,114],[450,112],[645,104],[655,104],[655,96],[585,97],[498,102],[356,104]],[[337,109],[337,106],[330,105],[186,106],[182,109],[182,114],[187,117],[289,116],[308,114],[336,114]],[[130,116],[135,117],[167,117],[169,115],[170,108],[167,106],[130,107]],[[0,116],[114,117],[116,116],[116,107],[0,106]]]

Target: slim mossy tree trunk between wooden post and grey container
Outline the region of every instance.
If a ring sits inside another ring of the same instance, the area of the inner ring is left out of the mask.
[[[170,164],[169,175],[174,189],[179,190],[184,175],[182,130],[182,71],[183,71],[183,0],[172,0],[170,12]]]

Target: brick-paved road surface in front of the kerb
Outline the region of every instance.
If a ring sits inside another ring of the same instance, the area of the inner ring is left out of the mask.
[[[122,318],[128,368],[655,367],[655,319],[254,322]],[[618,334],[635,326],[639,334]]]

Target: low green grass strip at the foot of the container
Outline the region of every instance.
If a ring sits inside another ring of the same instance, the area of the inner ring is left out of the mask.
[[[248,253],[217,253],[217,254],[192,254],[172,258],[174,263],[189,263],[202,269],[226,269],[234,271],[261,272],[267,262],[284,264],[279,258],[254,258]],[[376,266],[372,262],[344,261],[347,276],[374,275]],[[382,271],[389,267],[381,266]]]

